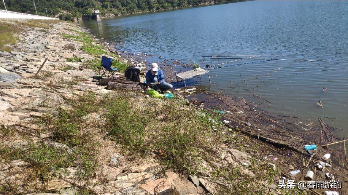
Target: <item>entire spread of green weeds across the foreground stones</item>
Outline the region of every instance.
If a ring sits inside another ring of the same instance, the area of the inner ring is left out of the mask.
[[[58,115],[46,114],[36,119],[40,133],[50,134],[52,141],[28,140],[22,149],[0,144],[1,162],[22,159],[27,163],[22,175],[24,187],[33,187],[35,178],[44,183],[59,176],[69,175],[69,168],[77,171],[70,177],[82,184],[78,194],[94,194],[88,188],[95,179],[98,156],[102,151],[100,138],[112,140],[121,146],[122,156],[129,159],[156,158],[163,171],[174,170],[184,175],[205,177],[207,167],[212,167],[212,181],[216,194],[267,194],[275,180],[277,170],[251,159],[246,175],[241,165],[219,167],[219,146],[226,144],[243,150],[243,138],[222,133],[220,116],[204,109],[197,109],[183,98],[159,100],[147,98],[140,92],[117,90],[98,96],[94,92],[75,94],[57,107]],[[219,131],[214,131],[214,128]],[[1,128],[2,135],[12,136],[13,128]],[[18,132],[17,132],[18,133]],[[22,136],[25,136],[24,134]],[[99,140],[99,141],[98,141]],[[244,149],[245,150],[245,149]],[[258,153],[258,145],[251,145],[246,152]],[[265,184],[267,182],[267,184]],[[45,192],[45,185],[37,184],[35,192]],[[0,186],[1,194],[21,194],[11,183]],[[303,194],[286,190],[283,194]]]

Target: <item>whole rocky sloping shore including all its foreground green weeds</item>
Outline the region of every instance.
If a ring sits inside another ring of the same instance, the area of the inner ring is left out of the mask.
[[[46,25],[25,27],[12,51],[0,51],[0,194],[310,193],[277,189],[301,152],[299,162],[280,163],[288,149],[223,125],[199,97],[184,99],[187,91],[171,101],[98,85],[96,59],[134,59],[90,42],[74,24]]]

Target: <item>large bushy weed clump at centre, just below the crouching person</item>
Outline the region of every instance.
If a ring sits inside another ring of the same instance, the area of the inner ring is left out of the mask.
[[[136,106],[129,94],[122,91],[104,101],[108,110],[106,129],[127,155],[141,157],[152,152],[163,166],[195,174],[205,156],[214,153],[221,141],[212,130],[212,125],[221,125],[213,124],[218,115],[198,116],[196,109],[186,106],[185,101],[169,100],[163,104],[151,99],[145,106]]]

